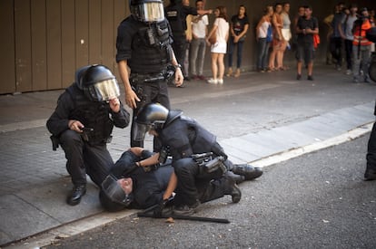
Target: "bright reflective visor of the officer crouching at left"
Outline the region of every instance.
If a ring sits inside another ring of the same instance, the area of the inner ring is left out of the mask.
[[[115,79],[100,81],[94,84],[94,99],[110,101],[120,96],[119,85]]]

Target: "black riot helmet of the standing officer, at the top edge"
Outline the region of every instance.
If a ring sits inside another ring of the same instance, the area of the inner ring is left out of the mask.
[[[164,20],[162,0],[130,0],[129,9],[134,17],[143,23],[161,22]]]

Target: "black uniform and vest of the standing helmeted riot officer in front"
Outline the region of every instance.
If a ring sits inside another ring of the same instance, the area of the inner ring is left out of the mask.
[[[131,147],[143,147],[134,140],[134,118],[147,103],[158,102],[170,109],[166,75],[172,62],[172,32],[167,20],[145,24],[133,15],[117,28],[116,62],[127,61],[130,83],[141,102],[137,103],[131,128]]]

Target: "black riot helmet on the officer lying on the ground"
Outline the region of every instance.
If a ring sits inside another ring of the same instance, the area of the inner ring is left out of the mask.
[[[105,210],[116,212],[130,206],[134,201],[134,195],[132,193],[125,194],[124,189],[117,182],[117,178],[109,175],[105,177],[101,185],[99,200]]]

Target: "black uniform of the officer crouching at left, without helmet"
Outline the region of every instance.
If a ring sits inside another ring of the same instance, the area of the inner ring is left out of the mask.
[[[129,116],[122,104],[120,111],[115,113],[105,101],[89,101],[76,83],[60,95],[46,125],[64,149],[66,169],[74,186],[86,184],[86,173],[101,186],[114,166],[106,143],[111,139],[114,126],[124,128],[129,124]],[[78,133],[69,129],[69,120],[79,120],[85,128],[93,130]]]

